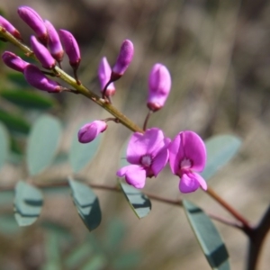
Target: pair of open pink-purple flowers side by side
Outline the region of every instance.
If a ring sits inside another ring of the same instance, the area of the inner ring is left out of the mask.
[[[146,177],[157,176],[169,162],[174,175],[180,177],[179,190],[192,193],[199,187],[207,189],[201,175],[206,162],[206,149],[202,139],[195,132],[184,130],[171,141],[157,128],[146,130],[143,134],[135,132],[127,148],[129,166],[117,171],[125,177],[128,184],[143,188]]]

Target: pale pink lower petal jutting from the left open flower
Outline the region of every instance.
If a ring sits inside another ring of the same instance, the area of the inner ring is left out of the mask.
[[[125,176],[126,182],[136,188],[143,188],[145,185],[146,171],[141,166],[123,166],[120,170],[117,171],[116,175],[120,177]]]

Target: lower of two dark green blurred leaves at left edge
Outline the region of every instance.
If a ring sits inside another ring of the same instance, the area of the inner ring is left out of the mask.
[[[30,130],[30,124],[21,115],[0,110],[0,121],[12,132],[27,134]]]

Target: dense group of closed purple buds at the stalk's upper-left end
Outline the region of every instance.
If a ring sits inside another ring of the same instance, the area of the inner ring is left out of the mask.
[[[74,68],[76,76],[76,69],[80,62],[80,51],[74,36],[65,30],[57,31],[48,20],[43,20],[40,14],[30,6],[20,6],[18,8],[18,14],[23,22],[35,32],[35,35],[31,35],[30,44],[33,54],[40,61],[41,66],[49,70],[54,69],[57,63],[60,66],[64,57],[63,43],[69,63]],[[0,26],[5,31],[11,33],[16,39],[22,40],[19,31],[2,16],[0,16]],[[59,85],[58,82],[51,80],[45,75],[49,72],[42,71],[39,67],[31,65],[10,51],[4,51],[2,59],[6,66],[22,72],[26,81],[37,89],[49,93],[58,93],[67,90],[67,88]]]

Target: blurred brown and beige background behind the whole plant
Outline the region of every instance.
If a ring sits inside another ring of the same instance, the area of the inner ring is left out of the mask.
[[[75,35],[82,54],[79,77],[97,94],[100,59],[106,56],[112,65],[121,41],[132,40],[134,59],[115,83],[113,104],[139,125],[148,112],[149,70],[157,62],[166,65],[173,79],[171,94],[166,106],[152,115],[149,126],[163,129],[171,138],[180,130],[194,130],[203,139],[223,133],[243,139],[238,157],[209,184],[247,220],[257,223],[269,204],[270,191],[270,1],[0,0],[4,16],[29,44],[31,29],[16,12],[21,4],[30,5],[56,28]],[[1,46],[17,51],[3,42]],[[72,74],[67,59],[63,66]],[[3,63],[0,68],[0,95],[6,89],[23,87],[22,78],[11,74]],[[58,116],[65,126],[59,149],[62,156],[80,122],[109,117],[82,96],[49,98],[55,105],[47,112]],[[4,95],[0,108],[20,115],[29,125],[41,113],[14,106]],[[13,131],[13,151],[20,157],[27,129],[24,134]],[[114,184],[120,148],[129,136],[129,130],[110,123],[99,153],[82,175],[92,183]],[[11,159],[1,169],[0,184],[15,184],[25,177],[25,166],[18,164]],[[70,172],[67,162],[61,162],[34,181],[53,182]],[[177,185],[177,177],[166,167],[157,179],[148,179],[145,191],[172,199],[184,197],[231,219],[207,194],[182,195]],[[12,193],[0,193],[0,268],[210,269],[182,209],[152,202],[148,217],[138,220],[120,193],[96,193],[103,220],[91,234],[79,219],[68,190],[48,191],[40,219],[25,229],[14,221]],[[247,238],[215,223],[229,249],[231,269],[244,269]],[[268,237],[258,269],[269,269],[269,250]]]

